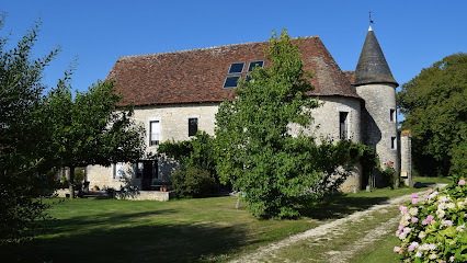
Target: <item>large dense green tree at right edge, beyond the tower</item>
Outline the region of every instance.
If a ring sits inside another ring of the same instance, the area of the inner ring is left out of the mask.
[[[466,175],[467,54],[422,69],[402,84],[397,102],[406,117],[402,129],[412,132],[414,169],[422,175]]]

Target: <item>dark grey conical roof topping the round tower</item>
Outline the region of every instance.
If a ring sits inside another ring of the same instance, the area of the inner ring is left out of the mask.
[[[396,87],[399,85],[390,72],[372,26],[369,26],[366,34],[365,44],[363,44],[362,54],[355,69],[355,85],[369,83],[394,83]]]

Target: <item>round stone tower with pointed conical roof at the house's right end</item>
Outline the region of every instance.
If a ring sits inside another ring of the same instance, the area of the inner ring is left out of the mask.
[[[392,162],[396,172],[400,167],[396,113],[398,85],[369,26],[355,69],[356,93],[365,101],[365,108],[362,108],[363,141],[376,150],[381,167]],[[374,171],[373,174],[374,185],[380,185],[380,173]]]

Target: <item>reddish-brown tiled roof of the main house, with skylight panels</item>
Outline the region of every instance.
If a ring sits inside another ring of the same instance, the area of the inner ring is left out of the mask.
[[[267,44],[119,57],[106,80],[116,81],[116,91],[124,95],[123,105],[221,102],[235,98],[232,90],[223,89],[230,64],[246,61],[247,68],[249,61],[264,60],[262,50]],[[300,50],[305,70],[316,71],[311,94],[360,98],[319,37],[301,38]]]

